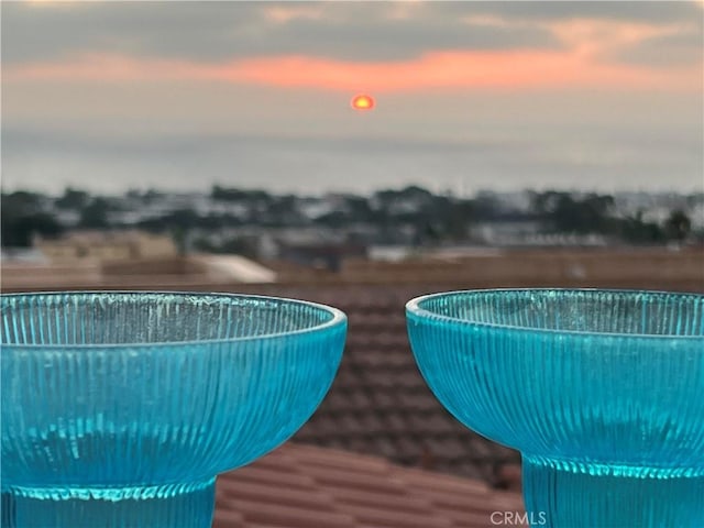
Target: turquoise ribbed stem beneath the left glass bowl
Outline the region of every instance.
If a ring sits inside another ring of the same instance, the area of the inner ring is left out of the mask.
[[[167,486],[72,488],[66,494],[61,488],[3,490],[0,518],[1,528],[210,528],[213,508],[215,477]]]

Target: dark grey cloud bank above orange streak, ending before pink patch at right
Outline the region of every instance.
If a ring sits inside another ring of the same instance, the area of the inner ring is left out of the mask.
[[[558,44],[539,28],[472,28],[418,2],[10,2],[2,33],[8,64],[87,51],[199,62],[284,53],[386,61],[438,48]]]

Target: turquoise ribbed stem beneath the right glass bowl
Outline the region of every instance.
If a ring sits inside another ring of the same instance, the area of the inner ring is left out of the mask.
[[[530,526],[704,527],[704,474],[629,476],[627,468],[607,469],[524,455],[524,497]]]

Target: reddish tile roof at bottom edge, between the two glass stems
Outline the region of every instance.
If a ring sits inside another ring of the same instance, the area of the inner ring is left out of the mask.
[[[484,528],[522,513],[515,492],[288,443],[218,479],[213,528]]]

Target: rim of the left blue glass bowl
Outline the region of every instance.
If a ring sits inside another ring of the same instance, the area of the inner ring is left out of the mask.
[[[280,339],[288,337],[306,336],[309,333],[317,333],[328,329],[332,329],[339,326],[346,324],[348,317],[339,308],[323,305],[321,302],[314,302],[310,300],[294,299],[290,297],[277,297],[270,295],[257,294],[238,294],[227,292],[176,292],[176,290],[141,290],[141,289],[116,289],[116,290],[68,290],[68,292],[16,292],[11,294],[0,293],[0,300],[9,299],[11,297],[53,297],[63,295],[85,295],[85,296],[107,296],[107,295],[152,295],[156,297],[161,296],[174,296],[174,297],[210,297],[220,299],[251,299],[251,300],[266,300],[277,301],[286,305],[307,306],[309,308],[318,309],[322,312],[332,315],[332,318],[319,324],[315,324],[308,328],[296,329],[292,331],[270,332],[260,336],[241,336],[234,338],[218,338],[218,339],[188,339],[183,341],[155,341],[152,343],[144,342],[125,342],[125,343],[76,343],[76,344],[26,344],[26,343],[0,343],[0,348],[11,348],[14,350],[36,350],[36,351],[51,351],[51,350],[110,350],[110,349],[153,349],[153,348],[187,348],[187,346],[202,346],[213,344],[227,344],[227,343],[240,343],[246,341],[258,341],[270,339]]]

